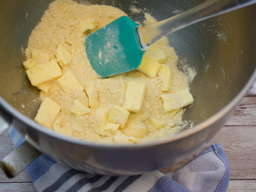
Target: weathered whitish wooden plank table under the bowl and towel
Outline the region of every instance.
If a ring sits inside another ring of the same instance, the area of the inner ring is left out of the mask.
[[[180,169],[200,151],[217,142],[222,145],[229,160],[228,191],[256,191],[256,96],[244,96],[233,116],[206,146],[187,159],[161,171],[174,172]],[[13,149],[14,145],[8,133],[0,135],[0,159]],[[13,179],[7,179],[0,171],[0,191],[30,192],[36,189],[26,171]]]

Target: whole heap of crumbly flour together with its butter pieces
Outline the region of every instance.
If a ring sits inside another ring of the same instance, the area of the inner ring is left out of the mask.
[[[144,63],[153,63],[156,73],[141,66],[99,79],[92,69],[84,47],[86,35],[121,16],[127,15],[105,5],[71,0],[49,5],[31,33],[23,63],[32,85],[41,90],[36,122],[70,137],[124,144],[170,137],[184,127],[183,107],[193,98],[166,37],[146,52]],[[145,14],[144,23],[152,22],[156,20]],[[158,60],[154,54],[159,52],[164,56]]]

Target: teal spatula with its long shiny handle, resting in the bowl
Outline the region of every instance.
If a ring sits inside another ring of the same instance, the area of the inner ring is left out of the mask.
[[[137,69],[146,48],[171,32],[256,0],[208,0],[188,11],[149,25],[138,25],[123,16],[86,36],[85,47],[92,68],[101,78]]]

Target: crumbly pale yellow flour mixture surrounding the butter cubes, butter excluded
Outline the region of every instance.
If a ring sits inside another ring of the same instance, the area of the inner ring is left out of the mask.
[[[62,133],[67,136],[90,142],[141,143],[152,139],[170,137],[183,127],[183,109],[165,113],[160,98],[161,94],[171,94],[184,88],[188,89],[187,76],[177,69],[178,57],[174,48],[169,46],[166,37],[161,38],[156,43],[164,50],[166,54],[165,65],[169,66],[171,71],[171,87],[168,91],[162,92],[160,89],[163,78],[161,74],[150,78],[144,73],[134,70],[110,78],[99,79],[92,69],[86,56],[84,47],[86,34],[80,31],[80,21],[95,19],[95,30],[97,30],[121,16],[126,16],[126,14],[111,6],[82,5],[71,0],[56,0],[49,5],[49,9],[45,11],[41,21],[31,33],[25,51],[27,60],[31,59],[33,50],[47,53],[50,56],[49,60],[54,60],[56,59],[56,49],[61,44],[71,55],[70,64],[62,66],[62,73],[71,72],[80,85],[84,87],[82,92],[85,94],[66,94],[58,79],[55,79],[46,83],[50,87],[47,93],[40,92],[41,100],[49,97],[61,107],[55,119],[58,119],[58,126],[62,127]],[[145,14],[144,23],[152,22],[155,22],[155,19],[149,14]],[[40,59],[36,60],[37,64],[43,62]],[[108,110],[109,115],[109,111],[114,105],[123,106],[126,87],[130,80],[145,82],[146,88],[141,111],[139,113],[130,112],[127,123],[123,128],[119,128],[118,132],[110,132],[107,136],[97,134],[94,125],[95,111],[97,108],[103,108]],[[82,105],[86,106],[88,103],[86,89],[93,85],[97,90],[98,107],[90,108],[90,113],[85,115],[75,116],[70,111],[70,108],[74,105],[74,100],[78,99]],[[156,128],[152,125],[150,119],[165,122],[164,126]],[[139,130],[136,127],[142,124],[146,126],[143,137],[140,135],[136,141],[129,139],[129,137],[137,137]],[[53,129],[52,126],[48,128]],[[115,134],[123,135],[126,139],[114,140]]]

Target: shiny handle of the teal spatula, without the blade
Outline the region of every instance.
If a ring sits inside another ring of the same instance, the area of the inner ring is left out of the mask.
[[[240,9],[256,3],[256,0],[208,0],[188,11],[166,20],[137,27],[137,35],[142,50],[171,32],[177,31],[210,17]]]

